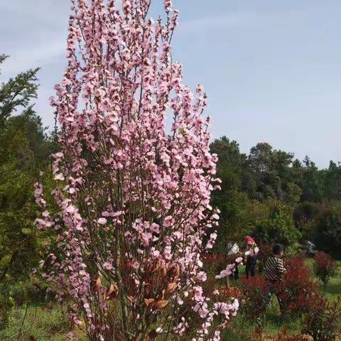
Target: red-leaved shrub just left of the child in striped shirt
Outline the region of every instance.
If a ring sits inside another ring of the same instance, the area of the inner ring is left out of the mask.
[[[249,279],[242,278],[242,312],[249,320],[257,320],[266,311],[264,304],[265,278],[261,276],[251,277]]]

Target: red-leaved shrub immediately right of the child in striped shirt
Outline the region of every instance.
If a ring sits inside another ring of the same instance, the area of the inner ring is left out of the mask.
[[[310,271],[303,260],[302,256],[286,259],[286,274],[275,288],[284,308],[291,313],[306,313],[317,293],[316,283],[310,278]]]

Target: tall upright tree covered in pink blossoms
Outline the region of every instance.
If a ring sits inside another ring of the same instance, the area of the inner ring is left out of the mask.
[[[172,59],[178,12],[166,0],[164,23],[153,21],[150,6],[72,0],[68,65],[51,99],[61,128],[53,202],[36,184],[37,224],[56,233],[41,266],[90,340],[220,340],[238,301],[202,290],[220,182],[206,96],[183,85]]]

